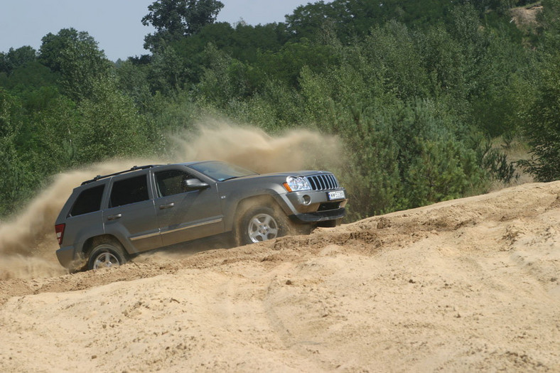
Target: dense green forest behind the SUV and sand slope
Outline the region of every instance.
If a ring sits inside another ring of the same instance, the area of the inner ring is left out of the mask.
[[[0,219],[208,117],[336,136],[345,165],[309,166],[339,176],[349,221],[560,179],[560,0],[317,1],[257,26],[216,22],[222,7],[155,1],[150,53],[126,60],[73,28],[1,52]]]

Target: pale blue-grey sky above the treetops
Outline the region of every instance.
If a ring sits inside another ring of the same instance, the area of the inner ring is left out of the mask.
[[[286,14],[315,0],[221,0],[218,22],[250,25],[284,22]],[[24,45],[38,50],[41,39],[62,28],[87,31],[107,58],[126,60],[148,54],[144,36],[154,32],[142,25],[155,0],[0,0],[0,52]]]

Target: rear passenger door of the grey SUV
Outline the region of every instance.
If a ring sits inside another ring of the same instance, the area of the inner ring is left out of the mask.
[[[103,221],[105,232],[117,237],[130,253],[163,246],[147,172],[113,178]]]

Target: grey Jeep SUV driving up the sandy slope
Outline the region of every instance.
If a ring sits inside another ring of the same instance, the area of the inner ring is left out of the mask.
[[[325,171],[260,175],[220,161],[134,166],[74,189],[55,222],[56,254],[69,269],[98,269],[215,234],[262,242],[333,227],[347,201]]]

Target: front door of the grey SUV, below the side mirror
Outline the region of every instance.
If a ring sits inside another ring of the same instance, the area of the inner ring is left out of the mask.
[[[193,175],[179,168],[154,173],[156,215],[165,246],[208,237],[224,231],[220,199],[215,183],[188,188]]]

